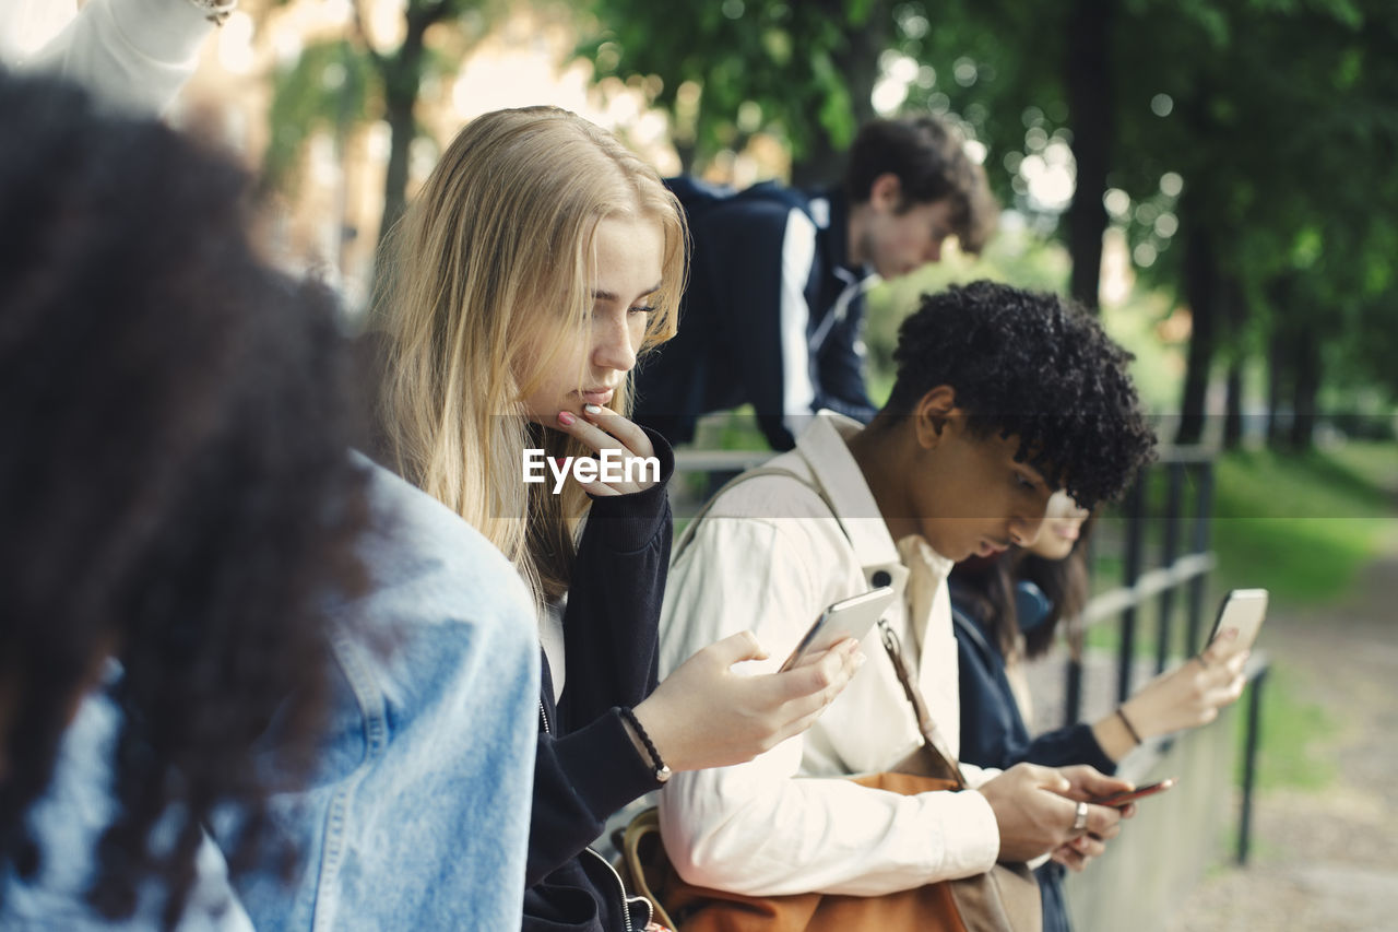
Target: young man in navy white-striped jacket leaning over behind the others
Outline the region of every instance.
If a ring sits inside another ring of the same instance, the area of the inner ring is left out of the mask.
[[[742,403],[774,449],[821,409],[868,421],[864,292],[937,262],[949,236],[979,252],[995,220],[984,171],[930,116],[864,126],[839,189],[667,183],[689,214],[689,284],[679,334],[636,372],[635,418],[675,444]]]

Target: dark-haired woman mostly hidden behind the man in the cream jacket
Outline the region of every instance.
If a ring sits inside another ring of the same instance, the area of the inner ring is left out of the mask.
[[[1060,624],[1076,619],[1088,602],[1090,525],[1085,508],[1067,493],[1054,493],[1035,543],[1002,557],[967,560],[952,571],[962,760],[981,767],[1092,764],[1114,774],[1142,740],[1212,722],[1219,708],[1241,696],[1247,652],[1233,651],[1223,635],[1198,658],[1142,686],[1110,715],[1030,737],[1022,663],[1047,654]],[[1067,863],[1035,872],[1044,932],[1069,928]]]

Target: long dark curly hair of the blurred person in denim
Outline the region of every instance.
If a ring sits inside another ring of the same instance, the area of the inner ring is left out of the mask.
[[[0,870],[38,870],[25,813],[115,656],[88,898],[127,917],[154,882],[169,926],[215,806],[250,813],[231,870],[270,841],[250,746],[275,715],[306,772],[323,605],[363,586],[334,304],[256,253],[228,157],[4,74],[0,139]]]

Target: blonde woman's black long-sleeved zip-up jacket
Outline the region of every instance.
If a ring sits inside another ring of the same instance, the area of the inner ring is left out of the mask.
[[[650,761],[626,735],[621,705],[656,687],[657,624],[670,565],[672,521],[667,484],[674,453],[647,431],[661,481],[630,495],[594,498],[563,612],[568,686],[554,702],[544,659],[524,890],[524,929],[618,932],[621,883],[584,848],[607,819],[656,789]],[[644,907],[632,924],[646,924]]]

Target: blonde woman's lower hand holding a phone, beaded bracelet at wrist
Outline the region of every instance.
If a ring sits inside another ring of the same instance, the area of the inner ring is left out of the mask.
[[[786,673],[731,669],[766,656],[751,631],[734,634],[685,661],[635,708],[670,770],[727,767],[772,750],[808,729],[864,663],[858,641],[846,638]]]

